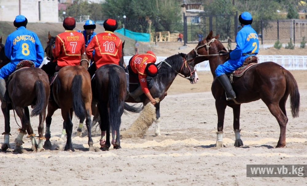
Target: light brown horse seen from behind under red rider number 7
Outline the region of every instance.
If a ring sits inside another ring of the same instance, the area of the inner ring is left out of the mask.
[[[55,38],[49,34],[49,41],[45,49],[47,56],[52,60],[52,45]],[[63,126],[67,133],[65,150],[72,149],[72,114],[75,112],[80,120],[86,118],[89,150],[94,150],[91,138],[91,78],[82,66],[64,66],[57,74],[52,86],[53,100],[49,101],[46,117],[45,148],[51,146],[50,124],[53,113],[60,108],[64,120]]]

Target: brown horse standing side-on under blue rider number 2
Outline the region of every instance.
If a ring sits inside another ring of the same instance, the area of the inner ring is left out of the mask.
[[[227,106],[233,109],[233,128],[235,131],[235,146],[242,146],[240,139],[240,106],[261,99],[276,118],[280,127],[280,136],[276,147],[286,146],[286,101],[290,94],[290,107],[293,117],[298,117],[300,94],[293,75],[282,66],[274,62],[258,63],[251,66],[241,77],[233,77],[232,87],[236,94],[235,101],[226,101],[225,90],[215,75],[216,67],[227,61],[229,55],[220,54],[226,51],[223,44],[217,40],[219,35],[212,37],[212,31],[198,43],[194,50],[188,53],[188,62],[195,66],[202,61],[209,60],[213,75],[212,94],[218,115],[217,143],[223,147],[222,133],[224,115]]]

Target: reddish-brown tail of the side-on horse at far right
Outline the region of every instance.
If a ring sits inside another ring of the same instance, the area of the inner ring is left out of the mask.
[[[298,117],[300,108],[300,93],[298,92],[297,82],[295,81],[293,75],[288,71],[283,71],[286,77],[287,89],[290,91],[290,107],[292,117]]]

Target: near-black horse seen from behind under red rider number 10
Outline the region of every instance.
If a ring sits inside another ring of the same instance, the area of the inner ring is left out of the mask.
[[[101,118],[102,137],[106,131],[106,141],[101,140],[100,145],[103,150],[109,150],[111,129],[112,144],[115,149],[119,149],[121,148],[119,127],[124,108],[130,107],[137,110],[137,108],[125,103],[127,94],[125,70],[116,64],[103,65],[95,72],[95,82],[95,97]],[[131,109],[129,110],[131,111]]]

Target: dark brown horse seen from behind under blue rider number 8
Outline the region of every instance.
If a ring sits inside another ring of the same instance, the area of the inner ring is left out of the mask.
[[[9,59],[4,55],[2,38],[0,39],[0,50],[0,59],[3,60],[2,63],[8,62]],[[13,108],[10,108],[11,106],[2,108],[5,120],[5,132],[2,133],[2,135],[4,135],[4,143],[1,148],[4,151],[10,148],[10,109],[15,109],[21,120],[21,128],[19,129],[19,134],[14,141],[14,151],[19,152],[22,149],[22,138],[27,131],[32,142],[32,150],[40,152],[43,150],[44,121],[50,93],[48,75],[40,68],[35,67],[21,68],[13,74],[10,76],[11,79],[7,85],[8,94]],[[28,108],[30,105],[33,108],[31,117],[39,115],[38,145],[35,141],[35,134],[30,123],[30,113]]]

